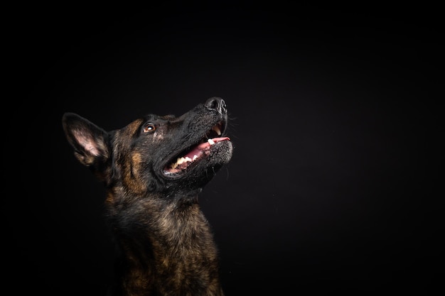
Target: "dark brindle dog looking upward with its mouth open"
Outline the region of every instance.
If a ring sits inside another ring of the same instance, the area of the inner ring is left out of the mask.
[[[198,194],[232,158],[224,100],[212,97],[179,117],[149,114],[114,131],[70,112],[62,123],[75,158],[106,188],[117,246],[108,295],[223,296]]]

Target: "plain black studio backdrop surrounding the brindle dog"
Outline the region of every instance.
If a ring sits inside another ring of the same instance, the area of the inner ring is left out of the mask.
[[[9,43],[16,291],[104,295],[112,275],[104,188],[75,160],[65,111],[112,130],[214,96],[235,151],[200,204],[227,296],[442,289],[436,9],[73,9],[19,15]]]

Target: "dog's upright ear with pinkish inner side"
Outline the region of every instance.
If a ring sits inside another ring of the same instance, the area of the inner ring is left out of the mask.
[[[99,165],[109,157],[108,133],[91,121],[74,113],[63,114],[63,131],[83,165]]]

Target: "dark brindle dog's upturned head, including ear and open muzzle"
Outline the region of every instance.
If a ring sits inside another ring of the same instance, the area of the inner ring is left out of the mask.
[[[149,114],[114,131],[63,116],[77,160],[107,187],[136,195],[200,190],[232,157],[226,128],[227,108],[216,97],[182,116]]]

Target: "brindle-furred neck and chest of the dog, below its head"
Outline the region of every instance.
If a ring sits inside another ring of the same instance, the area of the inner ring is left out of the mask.
[[[119,290],[128,295],[223,295],[218,250],[198,195],[151,196],[136,202],[126,197],[119,205],[116,200],[107,198],[118,246]]]

